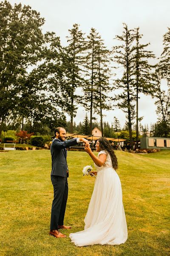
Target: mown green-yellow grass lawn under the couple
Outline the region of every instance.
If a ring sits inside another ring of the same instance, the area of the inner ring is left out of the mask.
[[[0,153],[0,256],[167,256],[170,245],[168,184],[170,151],[130,154],[116,151],[127,218],[125,244],[76,247],[67,237],[49,236],[53,187],[50,151]],[[85,152],[68,151],[70,177],[65,224],[83,230],[94,177]],[[101,188],[102,189],[102,188]]]

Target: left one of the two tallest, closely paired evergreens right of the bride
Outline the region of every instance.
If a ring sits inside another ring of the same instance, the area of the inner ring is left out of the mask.
[[[129,30],[124,24],[123,34],[121,36],[116,35],[116,39],[121,42],[121,45],[113,47],[114,60],[124,68],[122,79],[116,79],[114,83],[115,89],[122,89],[122,93],[116,95],[114,99],[118,102],[116,106],[127,113],[131,149],[133,149],[132,120],[135,114],[133,105],[134,38],[134,31]]]

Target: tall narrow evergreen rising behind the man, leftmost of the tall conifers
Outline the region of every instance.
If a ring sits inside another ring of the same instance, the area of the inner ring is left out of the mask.
[[[76,88],[82,87],[83,83],[83,65],[85,64],[85,38],[79,25],[74,24],[72,29],[69,29],[70,36],[67,37],[68,46],[65,47],[63,55],[63,71],[65,83],[63,91],[67,97],[67,113],[71,117],[70,131],[73,132],[73,118],[77,111],[77,104],[82,103],[82,97],[76,94]]]

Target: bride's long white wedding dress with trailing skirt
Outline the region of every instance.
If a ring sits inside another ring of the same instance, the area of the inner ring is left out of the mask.
[[[101,167],[94,164],[97,177],[85,216],[85,230],[69,236],[77,246],[123,244],[127,240],[120,179],[113,169],[111,156],[106,151],[100,151],[99,154],[106,154],[107,158]]]

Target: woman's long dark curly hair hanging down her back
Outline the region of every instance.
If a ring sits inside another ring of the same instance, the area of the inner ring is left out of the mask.
[[[111,146],[111,143],[109,143],[108,140],[106,140],[105,138],[99,138],[99,145],[101,150],[105,150],[107,151],[110,156],[111,156],[111,160],[112,160],[112,165],[113,165],[113,169],[118,169],[118,163],[117,163],[117,157],[114,154],[113,148]]]

